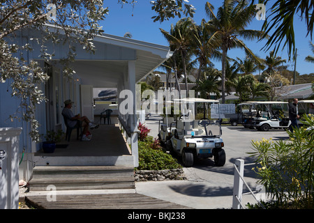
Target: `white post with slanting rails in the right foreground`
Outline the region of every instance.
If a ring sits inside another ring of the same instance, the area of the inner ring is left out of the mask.
[[[255,163],[252,163],[252,164],[255,164]],[[233,199],[232,199],[232,208],[233,209],[241,209],[241,208],[244,209],[244,206],[241,204],[242,195],[244,195],[243,184],[245,184],[246,187],[248,187],[248,190],[250,191],[250,192],[248,192],[248,194],[252,194],[252,196],[257,201],[257,203],[260,204],[260,206],[263,209],[266,209],[263,206],[263,204],[260,202],[260,200],[257,199],[257,197],[255,196],[255,194],[253,193],[251,188],[248,186],[248,184],[244,180],[244,166],[252,165],[252,164],[244,164],[244,160],[241,160],[241,159],[237,159],[234,162],[234,187],[233,187]],[[258,191],[258,192],[260,192],[260,191]]]

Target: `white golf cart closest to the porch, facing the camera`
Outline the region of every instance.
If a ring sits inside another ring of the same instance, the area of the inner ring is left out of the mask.
[[[195,98],[195,102],[218,102],[216,100],[204,100]],[[205,106],[204,106],[205,107]],[[209,158],[214,156],[216,166],[225,164],[225,151],[221,138],[221,121],[191,120],[187,116],[181,116],[176,121],[176,127],[170,126],[172,137],[166,141],[166,148],[170,153],[181,155],[184,166],[192,167],[197,158]]]

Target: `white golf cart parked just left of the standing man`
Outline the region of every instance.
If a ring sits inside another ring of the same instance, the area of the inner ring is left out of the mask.
[[[253,119],[253,126],[257,130],[289,128],[291,121],[287,118],[288,102],[257,101],[250,103],[253,103],[257,109],[257,116]]]

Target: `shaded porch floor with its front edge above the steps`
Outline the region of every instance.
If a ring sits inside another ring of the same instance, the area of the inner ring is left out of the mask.
[[[133,166],[130,146],[121,132],[119,124],[100,124],[99,128],[91,130],[91,141],[80,141],[76,139],[76,130],[73,130],[70,141],[63,139],[54,153],[44,153],[40,149],[34,153],[33,161],[36,166]]]

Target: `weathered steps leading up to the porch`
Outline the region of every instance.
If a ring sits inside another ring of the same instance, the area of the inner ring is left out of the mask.
[[[134,168],[130,166],[39,166],[33,169],[30,191],[134,189]]]

